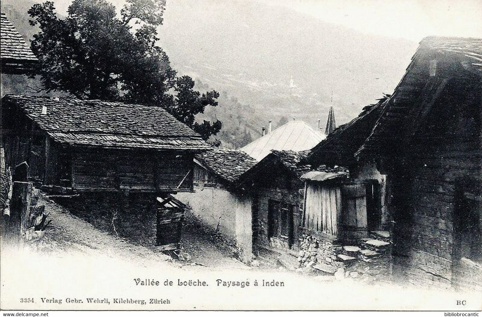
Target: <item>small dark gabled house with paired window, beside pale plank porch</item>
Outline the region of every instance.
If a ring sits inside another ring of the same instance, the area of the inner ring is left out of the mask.
[[[299,248],[298,228],[303,204],[300,177],[309,166],[300,164],[308,151],[278,151],[241,175],[238,184],[253,197],[253,249],[255,253]]]

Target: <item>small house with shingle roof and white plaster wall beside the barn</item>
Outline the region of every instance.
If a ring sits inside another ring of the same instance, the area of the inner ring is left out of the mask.
[[[213,149],[194,157],[194,193],[179,193],[192,213],[231,242],[243,262],[252,260],[251,197],[235,187],[256,160],[238,150]]]

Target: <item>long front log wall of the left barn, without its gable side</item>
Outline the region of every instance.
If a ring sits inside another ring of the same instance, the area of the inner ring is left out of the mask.
[[[75,148],[76,191],[192,191],[193,155],[140,149]]]

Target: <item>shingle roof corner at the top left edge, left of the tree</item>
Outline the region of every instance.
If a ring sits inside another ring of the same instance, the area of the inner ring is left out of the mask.
[[[37,62],[37,57],[5,13],[0,13],[0,59],[1,72],[14,74],[24,73]]]

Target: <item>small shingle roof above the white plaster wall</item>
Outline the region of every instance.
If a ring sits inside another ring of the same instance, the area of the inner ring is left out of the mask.
[[[201,165],[228,181],[236,181],[242,173],[252,168],[257,161],[238,150],[214,149],[195,156]]]

